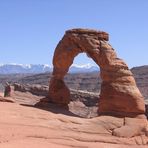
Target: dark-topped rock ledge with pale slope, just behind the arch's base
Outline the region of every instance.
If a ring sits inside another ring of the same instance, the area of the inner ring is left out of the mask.
[[[44,103],[48,103],[46,97],[48,95],[49,87],[46,85],[25,85],[14,83],[11,85],[11,88],[11,97],[4,97],[4,94],[0,93],[0,102],[17,102],[19,104],[28,105],[38,103],[41,106],[44,106]],[[46,98],[47,102],[39,102],[42,98]],[[98,99],[99,93],[70,89],[70,103],[68,105],[69,110],[84,118],[96,117],[98,116]],[[145,102],[145,115],[148,118],[147,102]]]

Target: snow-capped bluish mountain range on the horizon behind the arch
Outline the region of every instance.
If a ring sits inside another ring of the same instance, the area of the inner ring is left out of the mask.
[[[0,74],[15,74],[15,73],[44,73],[52,72],[52,66],[48,64],[0,64]],[[99,68],[95,65],[85,64],[77,65],[73,64],[69,72],[70,73],[84,73],[98,71]]]

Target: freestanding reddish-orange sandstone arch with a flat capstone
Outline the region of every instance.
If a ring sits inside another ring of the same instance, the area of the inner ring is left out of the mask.
[[[119,59],[107,42],[109,35],[102,31],[72,29],[66,31],[55,49],[53,77],[49,85],[49,100],[67,105],[70,91],[64,76],[75,56],[85,52],[100,67],[102,78],[99,99],[100,115],[144,117],[144,99],[128,66]]]

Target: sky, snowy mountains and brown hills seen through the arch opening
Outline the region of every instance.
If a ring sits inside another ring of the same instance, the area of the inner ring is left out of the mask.
[[[84,60],[76,64],[80,59]],[[84,64],[84,61],[86,64]],[[80,53],[74,58],[73,64],[64,77],[64,81],[68,88],[99,93],[101,87],[99,67],[86,53]]]

